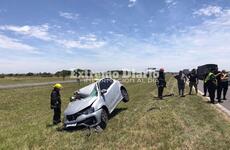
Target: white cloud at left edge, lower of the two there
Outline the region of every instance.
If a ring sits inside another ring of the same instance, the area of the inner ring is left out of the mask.
[[[0,35],[0,48],[19,50],[30,53],[37,53],[36,48],[27,44],[21,43],[17,39],[9,38],[5,35]]]

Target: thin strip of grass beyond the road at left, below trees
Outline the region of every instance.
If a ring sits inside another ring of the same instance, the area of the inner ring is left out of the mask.
[[[66,77],[65,80],[70,78]],[[0,85],[9,84],[20,84],[20,83],[40,83],[40,82],[52,82],[52,81],[62,81],[62,77],[5,77],[0,78]]]

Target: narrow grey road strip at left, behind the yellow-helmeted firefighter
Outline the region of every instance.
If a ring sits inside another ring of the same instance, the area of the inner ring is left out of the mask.
[[[50,85],[50,84],[55,84],[55,83],[74,83],[74,82],[77,82],[77,81],[67,80],[67,81],[53,81],[53,82],[41,82],[41,83],[22,83],[22,84],[0,85],[0,89],[13,89],[13,88],[43,86],[43,85]]]

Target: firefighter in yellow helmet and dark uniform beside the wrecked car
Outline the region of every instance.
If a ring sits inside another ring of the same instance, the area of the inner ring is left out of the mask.
[[[56,125],[61,122],[61,84],[55,84],[50,95],[50,108],[54,110],[53,124]]]

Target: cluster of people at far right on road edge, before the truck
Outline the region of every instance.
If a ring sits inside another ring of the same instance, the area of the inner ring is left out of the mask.
[[[212,69],[204,76],[204,95],[207,95],[207,91],[210,97],[211,103],[215,103],[215,97],[219,103],[221,103],[222,92],[223,100],[227,100],[226,95],[228,91],[228,73],[225,70],[218,71],[218,69]],[[217,96],[216,96],[217,91]]]

